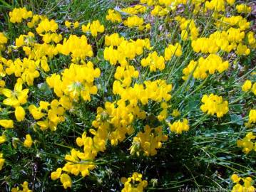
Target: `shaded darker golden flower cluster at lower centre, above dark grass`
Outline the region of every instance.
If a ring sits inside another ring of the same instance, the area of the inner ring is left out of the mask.
[[[144,132],[138,132],[133,137],[133,144],[130,146],[130,154],[140,155],[142,151],[145,156],[154,156],[157,154],[156,149],[162,147],[162,142],[166,142],[168,136],[163,134],[162,127],[150,128],[148,125],[144,127]]]

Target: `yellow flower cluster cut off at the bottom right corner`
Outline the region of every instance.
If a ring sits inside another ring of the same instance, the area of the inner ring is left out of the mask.
[[[233,186],[232,191],[231,192],[254,192],[255,191],[255,187],[252,186],[252,178],[250,177],[246,177],[246,178],[242,178],[240,176],[237,176],[237,174],[232,174],[231,176],[231,180],[233,181],[233,183],[235,183],[235,186]],[[243,184],[241,184],[241,181]]]

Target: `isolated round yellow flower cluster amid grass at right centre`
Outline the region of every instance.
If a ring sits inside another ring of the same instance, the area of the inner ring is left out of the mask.
[[[217,114],[217,117],[223,117],[228,112],[228,102],[222,100],[222,96],[217,96],[211,93],[210,95],[203,95],[203,105],[200,109],[210,115]]]

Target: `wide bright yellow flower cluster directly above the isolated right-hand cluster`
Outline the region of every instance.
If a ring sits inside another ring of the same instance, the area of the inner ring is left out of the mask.
[[[222,61],[219,55],[210,54],[207,58],[200,57],[198,61],[191,60],[186,68],[183,69],[183,80],[187,80],[190,73],[193,73],[195,79],[205,79],[208,74],[213,75],[222,73],[229,67],[228,61]]]

